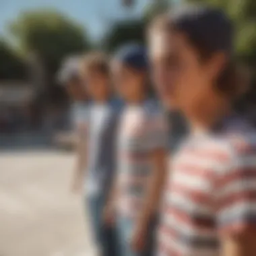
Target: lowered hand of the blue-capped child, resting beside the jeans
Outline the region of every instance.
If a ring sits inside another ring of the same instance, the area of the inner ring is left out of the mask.
[[[131,248],[133,251],[141,252],[146,247],[146,237],[147,237],[147,226],[143,224],[138,224],[135,226],[133,235],[131,236]]]

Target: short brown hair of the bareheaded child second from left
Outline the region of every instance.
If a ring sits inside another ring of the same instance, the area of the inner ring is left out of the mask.
[[[81,63],[82,73],[97,71],[109,75],[108,57],[102,52],[91,52],[84,56]]]

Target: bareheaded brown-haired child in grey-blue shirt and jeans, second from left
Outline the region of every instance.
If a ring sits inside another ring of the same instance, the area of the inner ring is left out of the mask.
[[[116,160],[115,138],[121,108],[112,97],[108,58],[89,53],[82,61],[82,77],[92,99],[88,110],[86,208],[102,256],[119,256],[115,228],[106,226],[102,211],[112,184]]]

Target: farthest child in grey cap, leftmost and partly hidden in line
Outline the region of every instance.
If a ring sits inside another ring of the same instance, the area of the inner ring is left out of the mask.
[[[71,98],[72,139],[75,140],[77,161],[72,183],[72,190],[80,192],[84,185],[84,168],[86,166],[86,139],[88,127],[88,94],[79,75],[80,57],[69,57],[63,63],[59,74],[59,83],[65,86]]]

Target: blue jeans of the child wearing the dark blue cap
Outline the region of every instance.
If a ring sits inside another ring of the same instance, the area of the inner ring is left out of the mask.
[[[148,227],[146,247],[141,252],[135,252],[130,246],[131,236],[134,230],[133,220],[119,216],[117,219],[117,234],[119,238],[119,251],[121,256],[153,256],[155,245],[156,219],[152,220]]]

